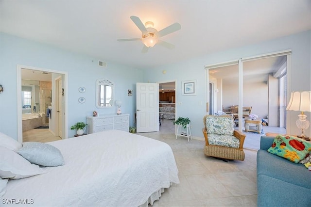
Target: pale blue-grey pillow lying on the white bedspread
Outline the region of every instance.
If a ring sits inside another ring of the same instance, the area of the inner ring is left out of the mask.
[[[17,153],[31,163],[41,166],[55,167],[65,164],[63,155],[59,149],[47,143],[23,143],[23,147]]]

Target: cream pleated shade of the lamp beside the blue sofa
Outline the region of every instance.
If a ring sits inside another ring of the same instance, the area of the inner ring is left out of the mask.
[[[311,112],[311,91],[292,92],[286,110]]]

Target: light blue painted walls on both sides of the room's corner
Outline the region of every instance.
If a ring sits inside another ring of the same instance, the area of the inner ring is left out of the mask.
[[[86,121],[86,115],[91,115],[92,111],[97,110],[95,108],[95,81],[99,78],[107,78],[115,83],[115,99],[126,103],[122,105],[122,113],[130,113],[130,125],[133,125],[133,114],[136,108],[136,82],[177,80],[177,117],[188,116],[192,121],[192,134],[203,137],[201,129],[206,108],[204,66],[285,49],[292,50],[292,70],[289,74],[290,91],[310,91],[311,31],[145,70],[110,63],[104,57],[89,57],[0,33],[0,84],[4,87],[4,92],[0,94],[0,131],[17,139],[17,64],[21,64],[68,72],[69,128],[78,121]],[[97,66],[98,60],[106,61],[108,66],[106,68]],[[167,73],[163,74],[163,70]],[[197,81],[196,96],[181,95],[181,81],[184,80]],[[84,104],[78,103],[78,98],[81,96],[78,92],[80,86],[86,87],[86,93],[83,94],[86,98]],[[133,96],[127,96],[127,89],[134,90]],[[179,102],[181,105],[178,104]],[[97,111],[100,114],[111,114],[115,113],[116,109]],[[298,114],[299,112],[294,111],[288,113],[291,134],[298,133],[295,127]],[[306,114],[310,120],[310,113]],[[72,137],[74,133],[69,129],[69,137]],[[310,128],[307,134],[311,135]]]

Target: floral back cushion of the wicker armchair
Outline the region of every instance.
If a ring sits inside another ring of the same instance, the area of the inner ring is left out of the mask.
[[[206,119],[208,137],[210,134],[233,136],[233,124],[233,119],[230,117],[208,116]]]

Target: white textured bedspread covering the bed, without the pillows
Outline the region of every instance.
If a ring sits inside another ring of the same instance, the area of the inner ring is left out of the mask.
[[[171,147],[154,139],[111,130],[49,144],[61,151],[65,165],[10,179],[2,200],[33,199],[29,206],[148,206],[161,189],[179,183]]]

